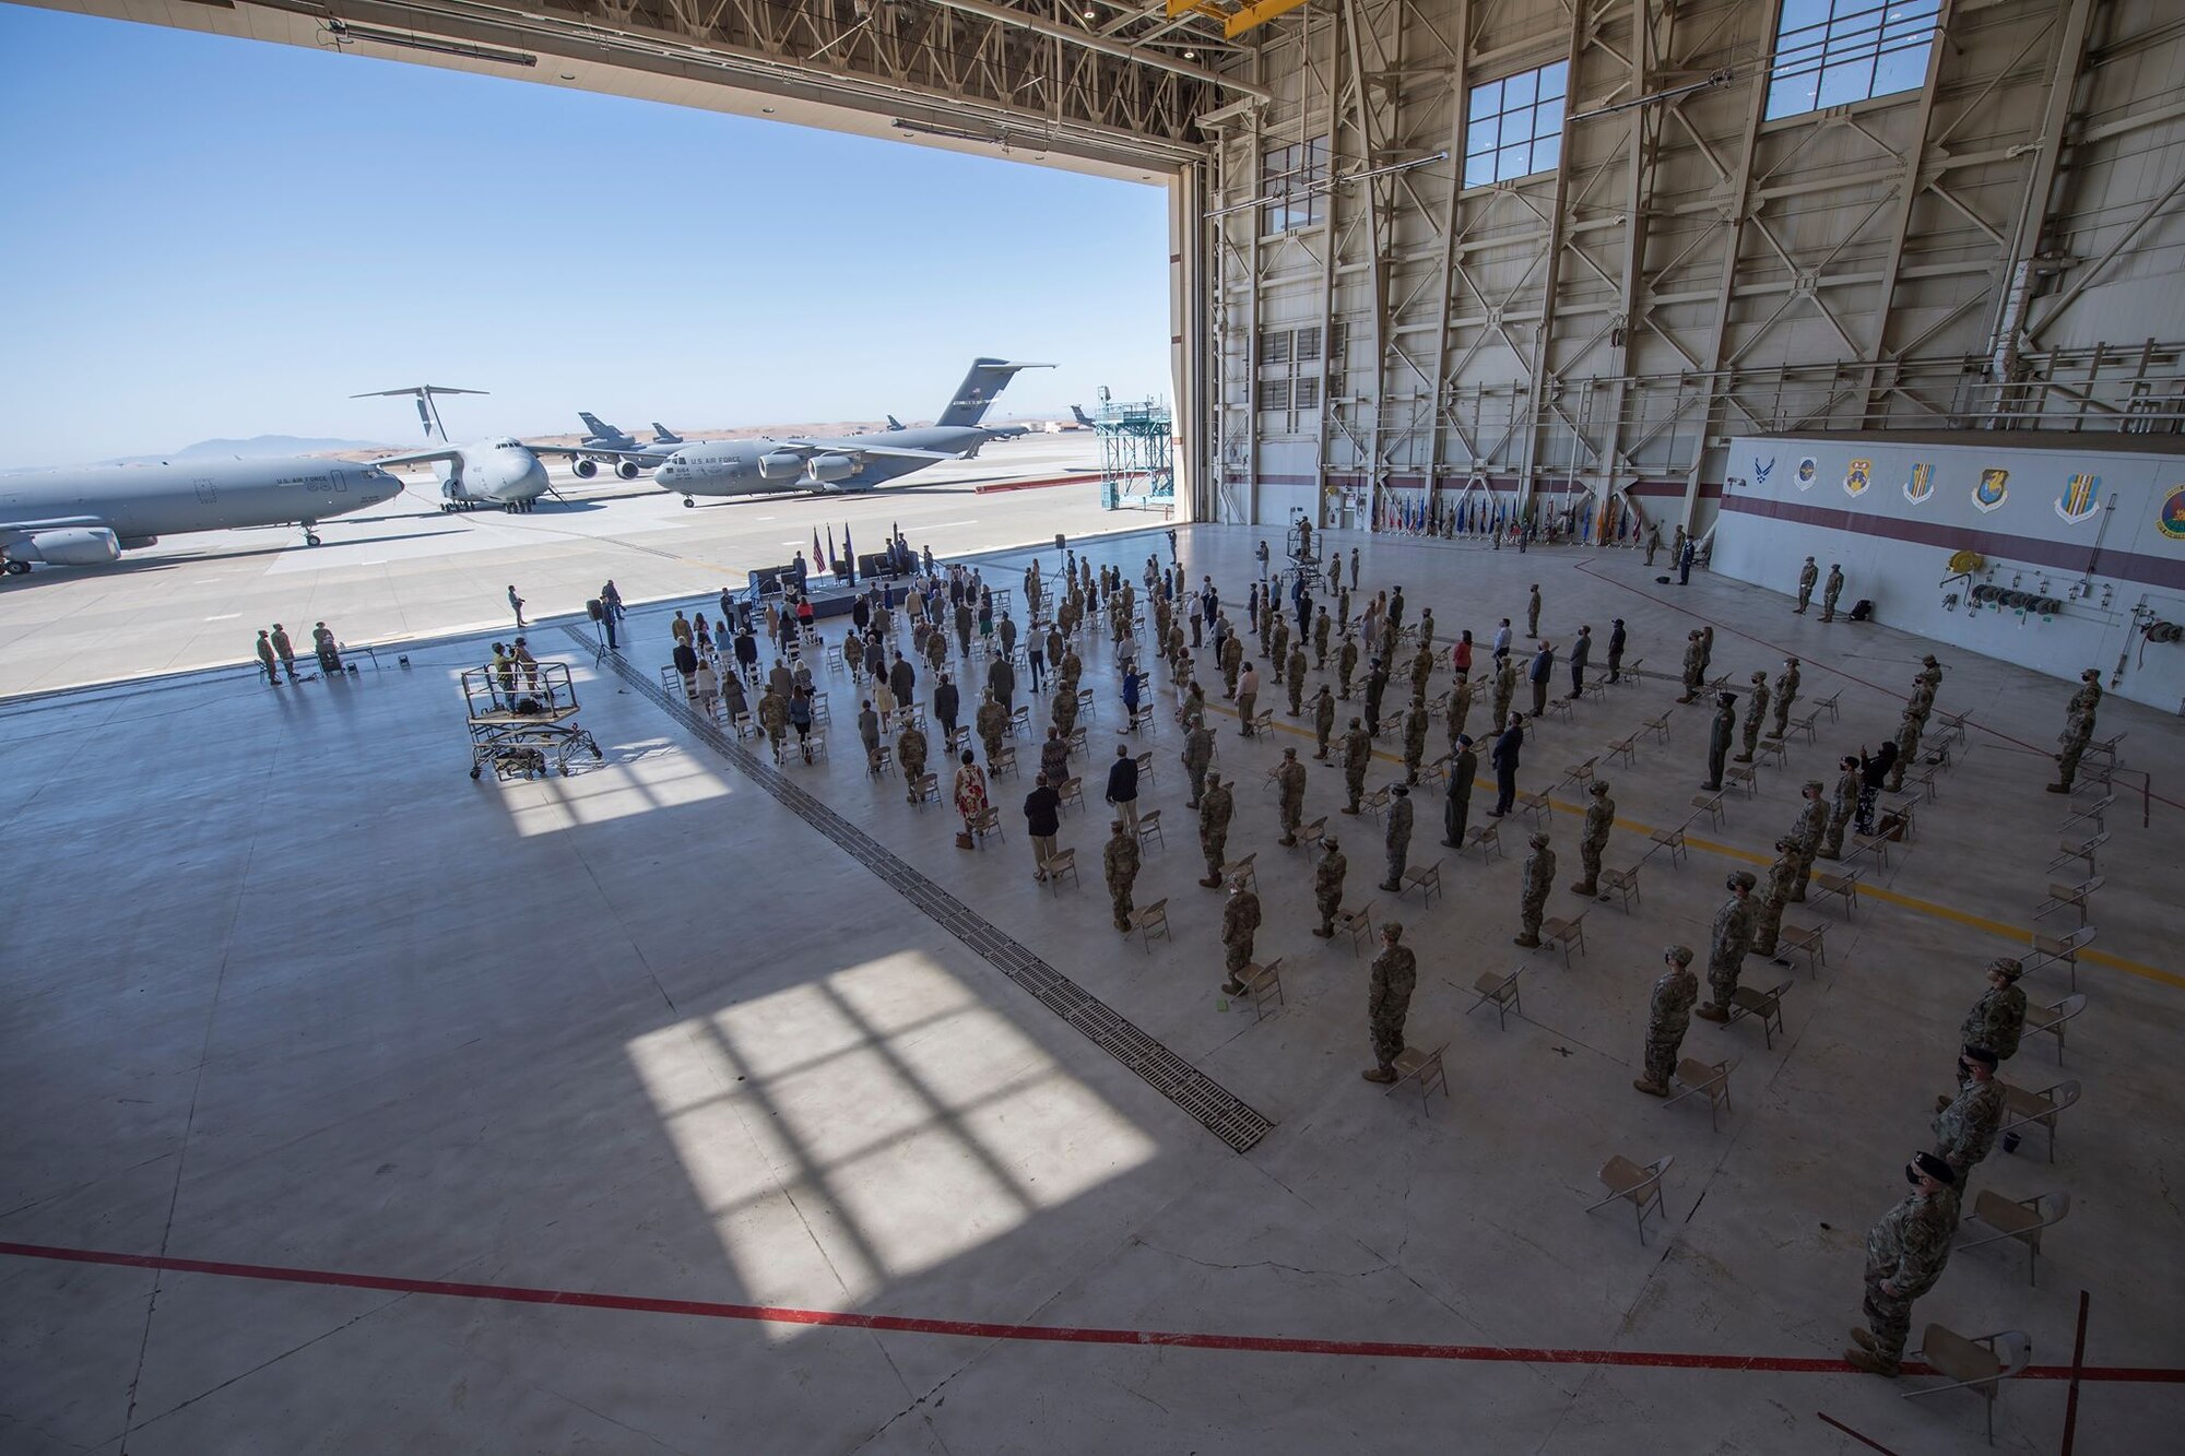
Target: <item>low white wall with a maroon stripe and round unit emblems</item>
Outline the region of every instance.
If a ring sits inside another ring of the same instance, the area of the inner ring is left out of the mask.
[[[1790,597],[1807,555],[1822,577],[1840,562],[1838,610],[1870,597],[1892,627],[2063,680],[2100,667],[2109,691],[2185,713],[2185,643],[2148,636],[2185,623],[2185,439],[2150,450],[2119,433],[1746,435],[1728,466],[1722,575]],[[1958,551],[1984,566],[1953,573]],[[2050,610],[1980,603],[1980,586]]]

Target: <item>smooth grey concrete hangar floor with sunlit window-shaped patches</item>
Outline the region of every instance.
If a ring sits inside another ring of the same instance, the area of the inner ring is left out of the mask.
[[[1252,540],[1186,529],[1184,568],[1241,601]],[[1031,883],[1018,780],[999,794],[1007,842],[953,848],[948,813],[913,809],[846,748],[841,680],[837,754],[784,774],[850,826],[822,835],[642,691],[666,660],[666,603],[631,623],[636,680],[533,634],[575,662],[605,748],[570,778],[465,776],[452,676],[483,638],[461,634],[413,645],[409,671],[341,682],[229,671],[0,708],[15,846],[0,1447],[1868,1449],[1824,1412],[1897,1452],[1982,1449],[1975,1397],[1903,1401],[1927,1382],[1835,1355],[1864,1231],[1927,1143],[1980,966],[2047,883],[2065,805],[2041,794],[2032,745],[2065,686],[1942,654],[1940,711],[1975,713],[1973,752],[1855,918],[1794,907],[1790,923],[1829,925],[1829,962],[1792,975],[1772,1049],[1750,1021],[1693,1025],[1687,1052],[1737,1060],[1717,1132],[1704,1106],[1630,1091],[1661,947],[1704,944],[1722,874],[1763,861],[1796,785],[1894,726],[1923,645],[1704,575],[1654,586],[1623,551],[1361,544],[1368,584],[1401,582],[1444,634],[1484,641],[1540,582],[1558,643],[1621,614],[1632,656],[1674,669],[1687,625],[1713,621],[1715,671],[1787,649],[1807,697],[1844,689],[1842,724],[1765,770],[1755,800],[1733,796],[1724,829],[1696,826],[1682,868],[1647,861],[1641,905],[1591,912],[1569,971],[1508,944],[1519,857],[1451,866],[1446,899],[1398,909],[1368,896],[1372,826],[1331,820],[1348,899],[1398,914],[1420,949],[1409,1038],[1446,1041],[1453,1082],[1431,1111],[1357,1076],[1366,960],[1304,934],[1309,872],[1274,846],[1261,787],[1302,741],[1280,711],[1272,743],[1217,724],[1239,778],[1230,853],[1259,850],[1259,944],[1289,968],[1287,1006],[1254,1021],[1215,993],[1217,896],[1193,883],[1165,715],[1149,807],[1176,822],[1138,901],[1171,896],[1176,936],[1147,953],[1108,927],[1106,815],[1064,824],[1082,890]],[[1132,566],[1160,547],[1090,551]],[[999,557],[1001,579],[1020,562]],[[1103,645],[1086,680],[1103,763],[1119,717]],[[1551,789],[1672,697],[1652,680],[1580,704],[1527,748],[1521,785]],[[2113,702],[2115,730],[2139,765],[2178,741]],[[1680,708],[1669,745],[1610,772],[1610,866],[1687,815],[1702,750],[1702,713]],[[1575,870],[1573,794],[1556,800]],[[1337,805],[1339,774],[1315,767],[1309,818]],[[1438,853],[1438,807],[1422,798],[1414,864]],[[2058,1447],[2082,1290],[2095,1377],[2078,1449],[2170,1449],[2161,1432],[2185,1419],[2178,824],[2170,802],[2150,831],[2122,798],[2109,811],[2069,1065],[2030,1038],[2006,1067],[2025,1087],[2084,1082],[2054,1165],[2034,1137],[1977,1174],[2012,1198],[2074,1196],[2039,1288],[2023,1250],[1966,1250],[1914,1316],[1914,1338],[1927,1320],[2032,1334],[2050,1377],[2001,1393],[1997,1449]],[[959,938],[920,914],[841,833],[979,925]],[[999,973],[981,947],[1001,936],[1274,1130],[1230,1152]],[[1525,1014],[1508,1030],[1466,1014],[1471,982],[1519,962]],[[2028,988],[2067,990],[2060,968]],[[1645,1246],[1628,1211],[1584,1213],[1610,1154],[1676,1156]]]

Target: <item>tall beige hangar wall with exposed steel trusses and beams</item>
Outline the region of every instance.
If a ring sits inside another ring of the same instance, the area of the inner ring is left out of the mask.
[[[1785,15],[1883,13],[1927,17],[1892,85],[1770,101]],[[1272,101],[1200,118],[1202,518],[1488,490],[1667,536],[1737,433],[2185,422],[2170,0],[1315,0],[1256,35],[1226,68]],[[1556,66],[1525,164],[1481,168]]]

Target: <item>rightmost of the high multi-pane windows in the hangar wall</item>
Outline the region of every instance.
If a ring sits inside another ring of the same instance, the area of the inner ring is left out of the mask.
[[[1783,0],[1768,120],[1918,90],[1940,13],[1940,0]]]

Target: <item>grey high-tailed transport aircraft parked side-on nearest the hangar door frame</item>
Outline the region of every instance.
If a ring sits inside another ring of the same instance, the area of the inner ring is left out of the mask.
[[[653,472],[684,505],[693,496],[758,496],[791,490],[850,492],[924,470],[940,459],[977,455],[994,435],[979,426],[994,396],[1020,369],[1053,365],[977,359],[940,420],[916,431],[874,431],[846,439],[714,439],[688,444]]]

